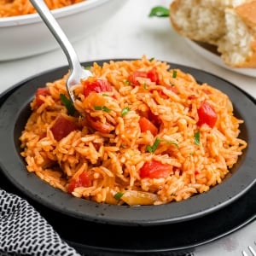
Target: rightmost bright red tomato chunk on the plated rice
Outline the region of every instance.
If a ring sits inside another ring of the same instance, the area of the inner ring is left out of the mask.
[[[212,128],[216,124],[218,116],[209,103],[201,102],[201,106],[197,109],[197,113],[199,117],[197,125],[207,124]]]

